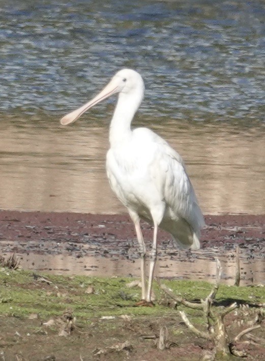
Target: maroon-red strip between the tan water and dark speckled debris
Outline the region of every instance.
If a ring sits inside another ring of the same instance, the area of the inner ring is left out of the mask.
[[[207,227],[202,230],[201,247],[209,248],[223,244],[259,244],[265,243],[265,215],[223,215],[205,216]],[[142,223],[144,239],[151,242],[153,230],[147,223]],[[0,242],[81,242],[98,240],[107,242],[111,239],[112,247],[117,243],[126,243],[135,238],[132,221],[126,215],[92,215],[78,213],[41,213],[0,211]],[[160,231],[159,243],[170,239],[170,235]],[[34,245],[31,251],[34,252]],[[117,252],[122,252],[118,247]],[[19,247],[20,248],[20,247]],[[15,250],[14,250],[15,251]],[[21,249],[19,249],[21,252]],[[25,247],[24,251],[27,251]],[[48,250],[47,250],[48,251]]]

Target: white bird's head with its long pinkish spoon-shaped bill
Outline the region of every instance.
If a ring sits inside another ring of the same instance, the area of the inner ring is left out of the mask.
[[[112,94],[120,93],[130,95],[139,93],[142,97],[144,92],[144,83],[139,73],[132,69],[123,69],[117,72],[104,89],[90,102],[80,108],[65,115],[61,119],[62,125],[67,125],[76,121],[86,110],[90,109],[103,99],[110,97]]]

